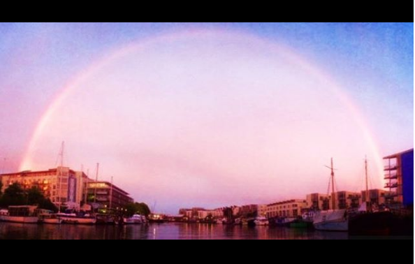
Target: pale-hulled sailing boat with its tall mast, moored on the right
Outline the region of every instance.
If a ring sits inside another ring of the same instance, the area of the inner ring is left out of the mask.
[[[316,212],[314,217],[314,228],[322,231],[340,231],[347,232],[349,230],[349,219],[347,210],[336,210],[335,198],[335,173],[333,167],[333,158],[331,159],[331,184],[332,184],[332,208],[333,210]]]

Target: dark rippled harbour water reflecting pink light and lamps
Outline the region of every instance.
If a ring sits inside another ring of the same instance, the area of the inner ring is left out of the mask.
[[[347,233],[196,223],[142,226],[0,223],[0,240],[347,240],[348,238]]]

